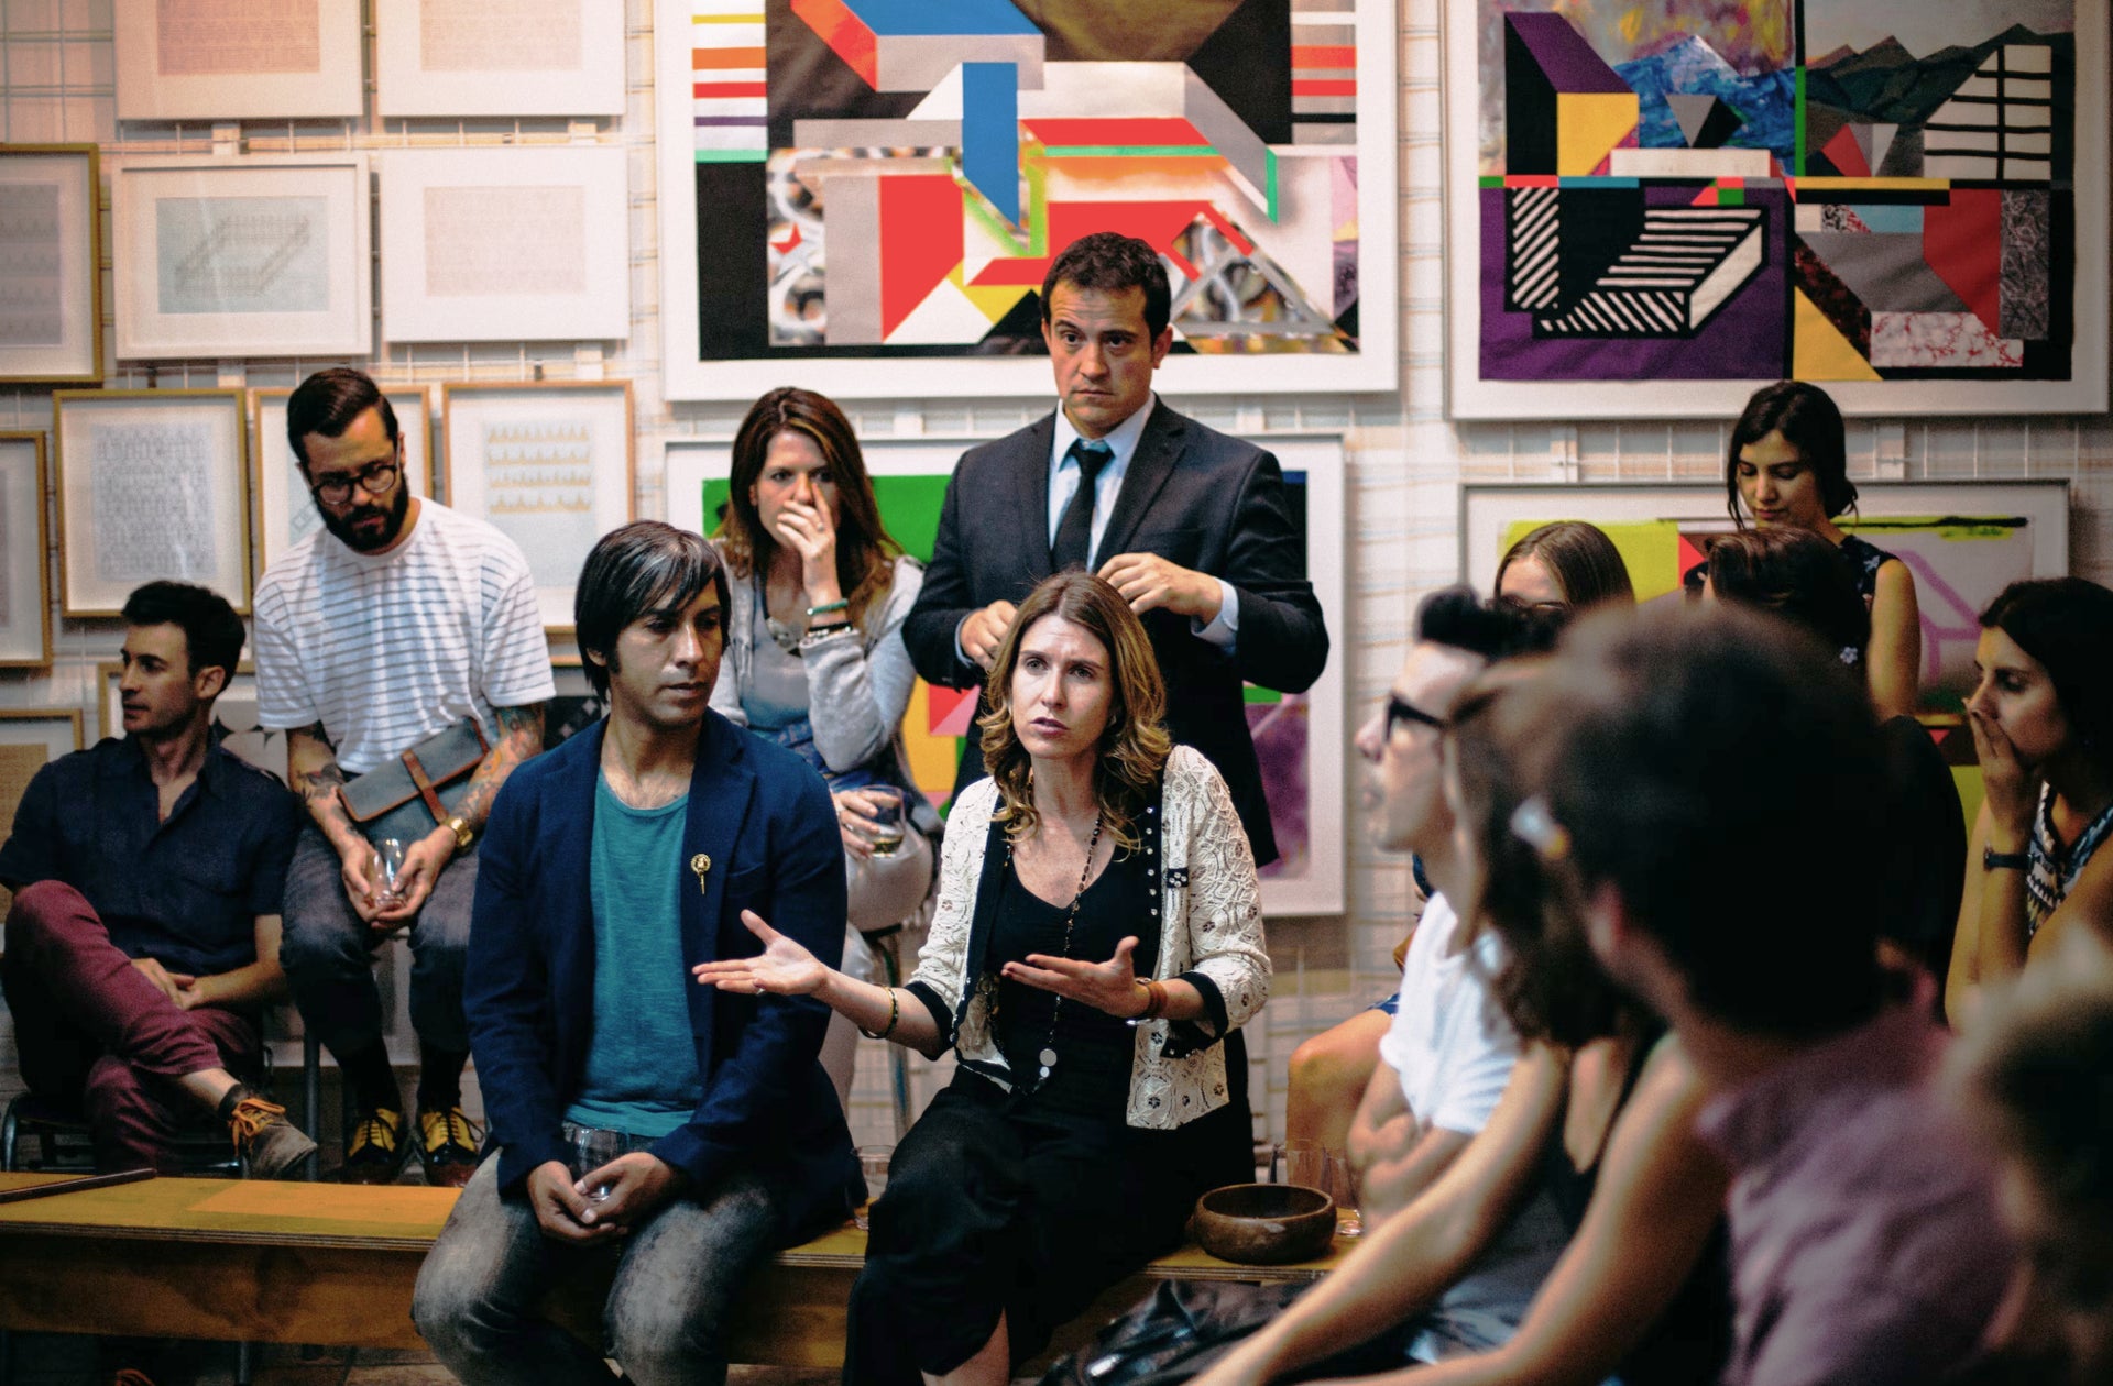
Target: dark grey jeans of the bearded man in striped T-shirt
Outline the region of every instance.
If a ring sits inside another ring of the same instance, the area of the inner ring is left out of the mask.
[[[418,1040],[469,1052],[463,1018],[463,957],[469,906],[478,896],[478,849],[456,856],[410,923],[410,1027]],[[300,830],[285,868],[285,936],[279,966],[300,1020],[330,1046],[353,1054],[382,1037],[382,999],[374,987],[374,949],[387,938],[368,928],[344,898],[338,849],[315,824]]]

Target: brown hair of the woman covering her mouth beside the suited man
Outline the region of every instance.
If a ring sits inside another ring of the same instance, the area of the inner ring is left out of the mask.
[[[763,461],[780,433],[805,435],[828,463],[828,475],[837,484],[837,585],[852,604],[852,623],[862,625],[866,608],[887,592],[902,545],[881,524],[881,507],[873,499],[873,477],[866,475],[866,458],[858,450],[852,420],[828,395],[784,385],[748,408],[748,418],[733,435],[727,513],[712,537],[727,554],[733,577],[746,579],[756,570],[769,570],[778,541],[765,532],[763,516],[756,513],[748,492],[763,475]]]

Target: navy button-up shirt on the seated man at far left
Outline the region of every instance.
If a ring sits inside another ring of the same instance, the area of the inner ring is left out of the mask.
[[[218,742],[161,822],[146,754],[106,737],[30,780],[0,881],[66,881],[129,957],[213,976],[256,961],[256,917],[279,913],[298,830],[294,794]]]

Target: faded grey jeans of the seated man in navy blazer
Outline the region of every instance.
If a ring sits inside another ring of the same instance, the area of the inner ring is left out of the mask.
[[[499,1198],[499,1160],[488,1158],[418,1268],[410,1316],[469,1386],[611,1382],[604,1354],[537,1306],[554,1282],[613,1261],[602,1333],[623,1375],[718,1386],[727,1378],[718,1321],[778,1238],[778,1206],[744,1170],[706,1202],[668,1202],[615,1247],[568,1247],[543,1236],[526,1198]]]

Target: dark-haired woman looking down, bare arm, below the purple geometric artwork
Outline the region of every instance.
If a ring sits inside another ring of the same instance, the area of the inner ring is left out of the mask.
[[[1885,549],[1843,530],[1855,505],[1843,414],[1817,385],[1779,380],[1754,391],[1724,454],[1724,507],[1745,528],[1811,530],[1838,547],[1870,611],[1864,676],[1878,716],[1908,716],[1921,691],[1923,628],[1914,575]]]

